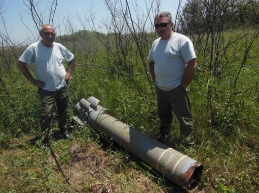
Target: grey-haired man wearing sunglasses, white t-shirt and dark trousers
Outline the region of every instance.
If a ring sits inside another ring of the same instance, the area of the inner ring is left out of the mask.
[[[197,66],[193,44],[188,37],[172,31],[170,12],[156,14],[154,27],[159,38],[151,46],[148,61],[150,74],[156,85],[160,118],[158,140],[164,142],[168,135],[173,111],[180,123],[184,142],[193,144],[193,120],[186,91]]]

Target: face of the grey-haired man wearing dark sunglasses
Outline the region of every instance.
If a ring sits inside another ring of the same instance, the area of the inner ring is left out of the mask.
[[[173,28],[173,23],[168,22],[168,17],[159,17],[155,19],[155,26],[158,24],[160,25],[158,28],[155,28],[156,34],[161,37],[161,39],[169,39],[172,34],[172,28]],[[169,23],[169,24],[167,24]],[[162,24],[162,26],[161,26]],[[157,26],[158,26],[157,25]],[[163,27],[165,25],[165,27]]]

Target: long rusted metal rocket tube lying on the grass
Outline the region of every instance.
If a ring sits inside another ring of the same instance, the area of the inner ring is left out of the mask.
[[[105,113],[102,106],[98,108],[99,100],[93,101],[91,105],[90,100],[81,99],[75,106],[77,118],[83,123],[104,132],[177,185],[190,190],[197,186],[203,169],[201,163],[122,123]]]

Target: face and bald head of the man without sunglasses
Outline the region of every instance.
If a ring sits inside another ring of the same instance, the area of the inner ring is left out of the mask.
[[[42,43],[46,47],[52,47],[56,37],[55,29],[52,26],[44,26],[40,31]]]

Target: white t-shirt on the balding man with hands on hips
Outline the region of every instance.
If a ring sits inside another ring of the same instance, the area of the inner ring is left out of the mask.
[[[42,89],[55,91],[66,84],[63,60],[70,62],[73,58],[63,45],[54,42],[53,47],[48,48],[39,41],[28,46],[19,60],[28,65],[34,63],[37,80],[45,83]]]

